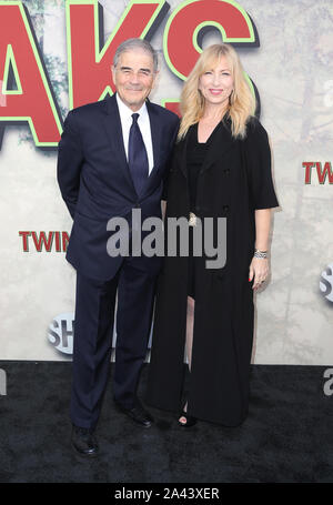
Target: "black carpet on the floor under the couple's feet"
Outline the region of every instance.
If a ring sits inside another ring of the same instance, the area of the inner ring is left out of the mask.
[[[70,446],[71,363],[2,361],[0,368],[1,483],[333,482],[326,366],[253,365],[249,417],[233,428],[199,422],[186,431],[153,408],[157,424],[141,428],[115,411],[110,381],[93,461]]]

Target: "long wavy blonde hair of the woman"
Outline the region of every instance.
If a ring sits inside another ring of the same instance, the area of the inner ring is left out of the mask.
[[[196,123],[202,118],[205,101],[198,89],[199,79],[204,72],[212,70],[221,57],[226,58],[234,81],[225,117],[231,119],[232,135],[234,138],[245,137],[246,122],[255,111],[255,98],[246,82],[238,53],[232,46],[221,43],[204,49],[183,87],[180,101],[182,120],[178,140],[186,134],[191,124]]]

